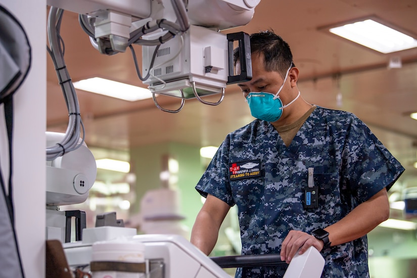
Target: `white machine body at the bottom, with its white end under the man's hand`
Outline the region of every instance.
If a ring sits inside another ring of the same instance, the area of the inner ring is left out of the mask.
[[[151,273],[151,278],[230,278],[218,264],[178,235],[135,235],[132,228],[96,227],[83,230],[82,242],[65,243],[63,247],[68,264],[73,268],[93,261],[92,246],[95,244],[118,242],[130,242],[131,245],[142,243],[145,246],[144,250],[137,249],[136,257],[144,255],[146,269],[148,274]],[[112,255],[109,261],[123,262],[134,255],[132,248],[126,250],[126,254],[120,253],[120,250],[113,251],[119,252],[119,259]],[[284,278],[318,278],[324,265],[325,259],[314,247],[310,247],[303,255],[294,256]],[[158,275],[153,276],[152,273]],[[117,271],[112,274],[117,277]]]

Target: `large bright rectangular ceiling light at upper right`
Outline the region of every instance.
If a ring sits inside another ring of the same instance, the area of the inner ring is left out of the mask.
[[[384,54],[417,47],[417,39],[372,19],[333,27],[329,31]]]

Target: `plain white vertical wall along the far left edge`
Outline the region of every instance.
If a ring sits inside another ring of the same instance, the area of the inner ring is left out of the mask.
[[[23,25],[32,66],[14,95],[13,183],[18,242],[26,277],[45,277],[46,0],[0,0]],[[7,134],[0,107],[0,162],[8,180]],[[1,247],[0,247],[1,248]]]

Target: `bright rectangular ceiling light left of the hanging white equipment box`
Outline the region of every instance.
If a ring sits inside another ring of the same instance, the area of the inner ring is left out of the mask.
[[[76,89],[95,92],[96,94],[117,98],[125,101],[139,101],[152,98],[149,89],[132,86],[100,77],[93,77],[74,82]]]

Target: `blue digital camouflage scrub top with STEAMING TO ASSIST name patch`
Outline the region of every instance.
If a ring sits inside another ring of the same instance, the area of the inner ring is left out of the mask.
[[[308,168],[318,207],[305,209]],[[279,254],[290,230],[310,233],[389,190],[404,168],[349,112],[317,106],[287,148],[275,128],[254,120],[229,133],[196,186],[238,206],[242,255]],[[322,277],[369,277],[366,236],[323,250]],[[280,277],[282,266],[238,268],[236,277]]]

